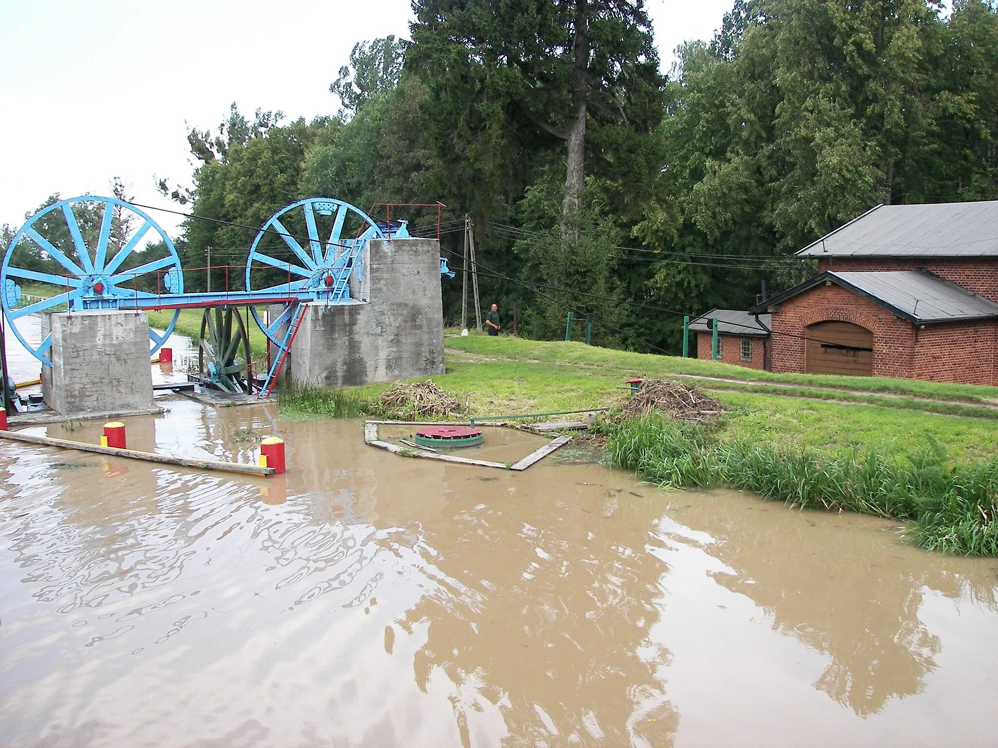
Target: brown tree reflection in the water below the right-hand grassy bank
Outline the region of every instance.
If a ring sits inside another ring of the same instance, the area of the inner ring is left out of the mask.
[[[936,667],[941,641],[918,617],[926,590],[998,609],[981,561],[903,546],[879,521],[786,512],[739,494],[671,509],[718,541],[704,546],[725,564],[717,583],[769,611],[774,630],[830,657],[814,687],[859,716],[919,693]]]

